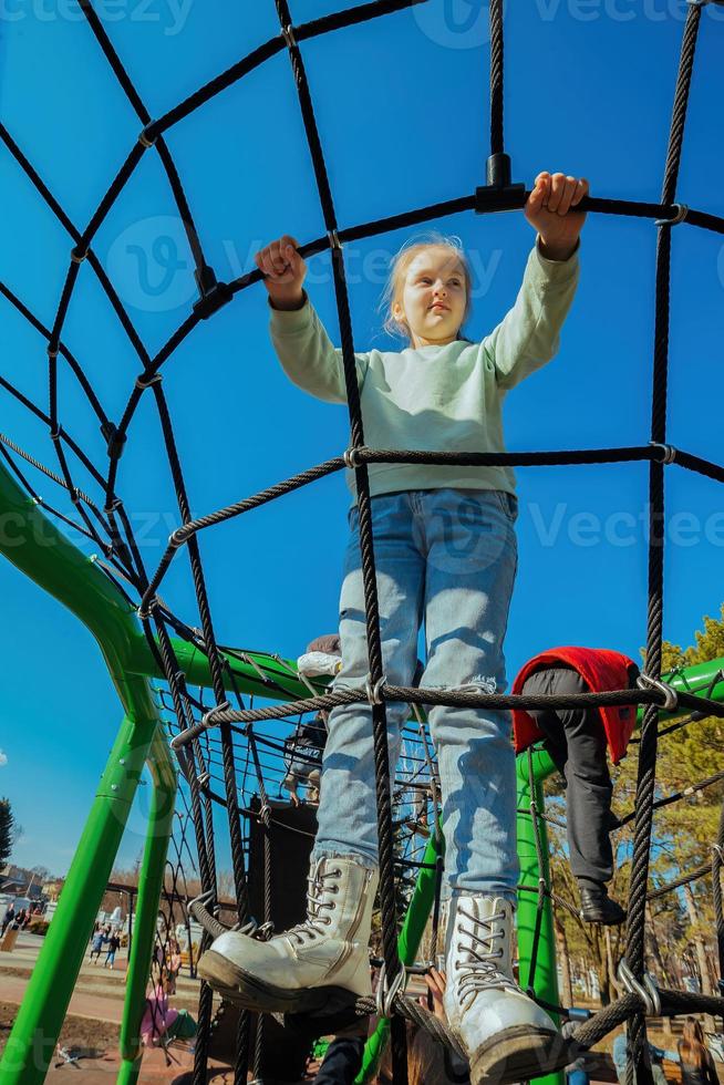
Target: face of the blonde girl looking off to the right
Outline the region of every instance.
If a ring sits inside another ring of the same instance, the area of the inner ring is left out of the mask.
[[[402,303],[392,307],[405,320],[413,347],[444,347],[457,338],[466,303],[465,273],[445,247],[423,249],[407,268]]]

